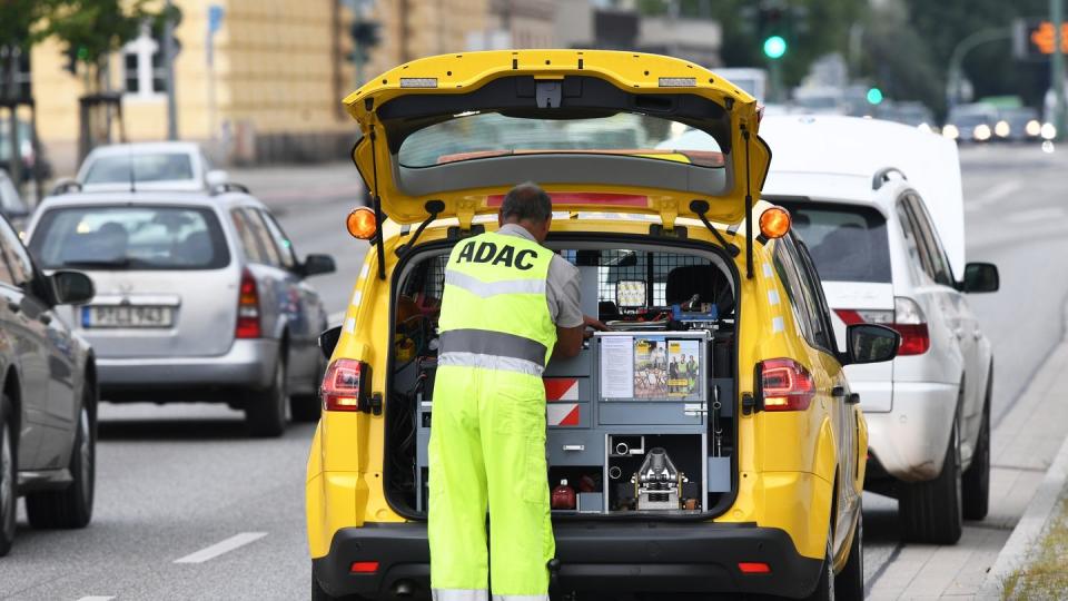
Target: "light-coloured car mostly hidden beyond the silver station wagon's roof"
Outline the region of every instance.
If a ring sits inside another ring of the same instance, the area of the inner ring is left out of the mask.
[[[116,144],[95,148],[76,180],[90,190],[201,190],[226,184],[226,171],[212,169],[194,142]]]

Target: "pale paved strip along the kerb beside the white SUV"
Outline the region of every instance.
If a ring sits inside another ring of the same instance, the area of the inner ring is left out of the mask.
[[[957,545],[900,548],[897,561],[870,589],[869,599],[989,598],[990,589],[985,584],[995,578],[991,568],[1001,563],[1000,555],[1002,549],[1008,550],[1010,531],[1024,521],[1021,516],[1065,442],[1068,432],[1065,390],[1068,390],[1068,341],[1061,341],[1050,353],[991,433],[987,519],[965,522],[965,533]],[[1032,543],[1024,546],[1030,549]]]

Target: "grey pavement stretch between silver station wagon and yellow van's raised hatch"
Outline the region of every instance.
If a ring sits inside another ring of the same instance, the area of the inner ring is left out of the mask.
[[[247,186],[271,208],[339,199],[363,204],[364,183],[352,161],[235,167],[227,171],[233,181]]]

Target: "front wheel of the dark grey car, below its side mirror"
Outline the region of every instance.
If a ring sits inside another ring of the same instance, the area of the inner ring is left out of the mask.
[[[91,394],[86,393],[87,396]],[[41,491],[26,495],[26,515],[31,526],[44,530],[89,525],[92,520],[96,484],[96,431],[89,405],[83,402],[75,432],[75,446],[70,451],[69,465],[73,482],[61,491]]]

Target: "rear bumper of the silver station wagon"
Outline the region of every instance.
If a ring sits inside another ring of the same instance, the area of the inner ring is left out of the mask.
[[[218,356],[98,357],[97,373],[105,398],[148,391],[264,388],[274,376],[278,348],[278,341],[259,338],[234,341],[230,349]]]

